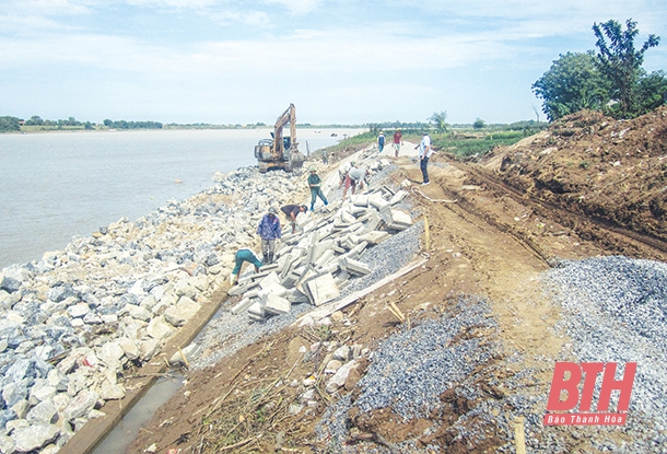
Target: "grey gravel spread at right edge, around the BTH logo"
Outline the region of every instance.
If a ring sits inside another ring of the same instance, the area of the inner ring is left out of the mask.
[[[560,328],[572,339],[562,360],[637,363],[628,423],[595,428],[594,446],[667,452],[667,265],[620,256],[565,260],[546,273],[546,282],[563,307]],[[613,395],[611,403],[610,411]],[[619,430],[630,435],[627,445],[609,440]]]

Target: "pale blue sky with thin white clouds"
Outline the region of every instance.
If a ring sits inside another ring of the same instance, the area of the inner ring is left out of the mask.
[[[0,0],[0,115],[535,119],[530,85],[610,19],[660,36],[644,68],[667,70],[664,0]]]

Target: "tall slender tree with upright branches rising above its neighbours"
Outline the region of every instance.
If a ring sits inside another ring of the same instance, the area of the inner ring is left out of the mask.
[[[634,96],[643,75],[644,54],[651,47],[656,47],[660,38],[648,35],[642,48],[635,50],[634,39],[640,31],[636,22],[631,19],[625,21],[625,31],[619,22],[610,20],[599,25],[593,24],[593,32],[598,48],[596,63],[600,73],[611,83],[611,96],[619,101],[620,116],[639,115],[640,112],[633,109],[633,104],[637,104]]]

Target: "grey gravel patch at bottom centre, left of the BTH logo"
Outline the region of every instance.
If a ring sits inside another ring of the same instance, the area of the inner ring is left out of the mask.
[[[435,444],[421,446],[417,441],[436,433],[446,415],[452,415],[452,405],[441,396],[454,389],[458,401],[475,401],[470,405],[475,408],[454,418],[454,443],[475,447],[496,436],[494,445],[510,445],[511,426],[502,403],[480,387],[482,379],[491,386],[500,384],[495,379],[499,345],[483,340],[495,337],[496,327],[487,301],[476,296],[460,296],[440,317],[425,318],[410,329],[403,325],[373,352],[358,383],[359,393],[341,397],[327,409],[317,428],[318,439],[335,453],[443,452]],[[349,445],[349,428],[354,426],[349,411],[354,407],[363,415],[390,409],[403,423],[429,418],[432,426],[391,449],[375,443]],[[499,442],[499,433],[507,440]]]

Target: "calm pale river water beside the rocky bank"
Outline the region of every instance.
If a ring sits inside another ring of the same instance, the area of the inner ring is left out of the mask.
[[[358,132],[300,129],[299,148],[305,154]],[[257,164],[255,144],[269,137],[269,129],[0,135],[0,269],[186,199],[215,172]]]

